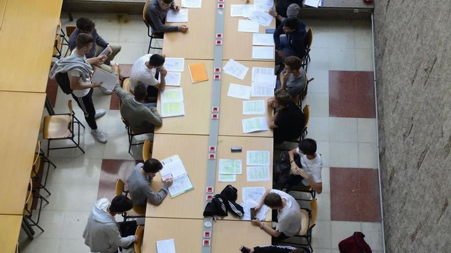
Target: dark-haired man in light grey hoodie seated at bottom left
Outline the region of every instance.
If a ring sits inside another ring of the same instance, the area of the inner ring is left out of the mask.
[[[134,235],[122,237],[114,216],[127,212],[133,208],[132,201],[125,195],[118,195],[110,201],[101,198],[94,204],[89,214],[83,238],[91,252],[113,253],[118,247],[130,246],[139,238]]]

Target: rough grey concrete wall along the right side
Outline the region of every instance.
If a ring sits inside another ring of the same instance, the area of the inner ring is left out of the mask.
[[[451,252],[451,1],[375,0],[387,252]]]

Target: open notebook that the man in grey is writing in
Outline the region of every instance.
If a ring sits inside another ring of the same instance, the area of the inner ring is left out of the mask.
[[[171,198],[194,189],[188,173],[178,155],[173,155],[161,161],[161,179],[172,177],[172,185],[168,188]]]

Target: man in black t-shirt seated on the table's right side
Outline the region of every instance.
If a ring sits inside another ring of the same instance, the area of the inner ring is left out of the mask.
[[[290,94],[283,89],[276,90],[274,98],[268,99],[268,106],[275,109],[274,116],[268,124],[274,129],[274,143],[281,144],[299,137],[305,117]]]

